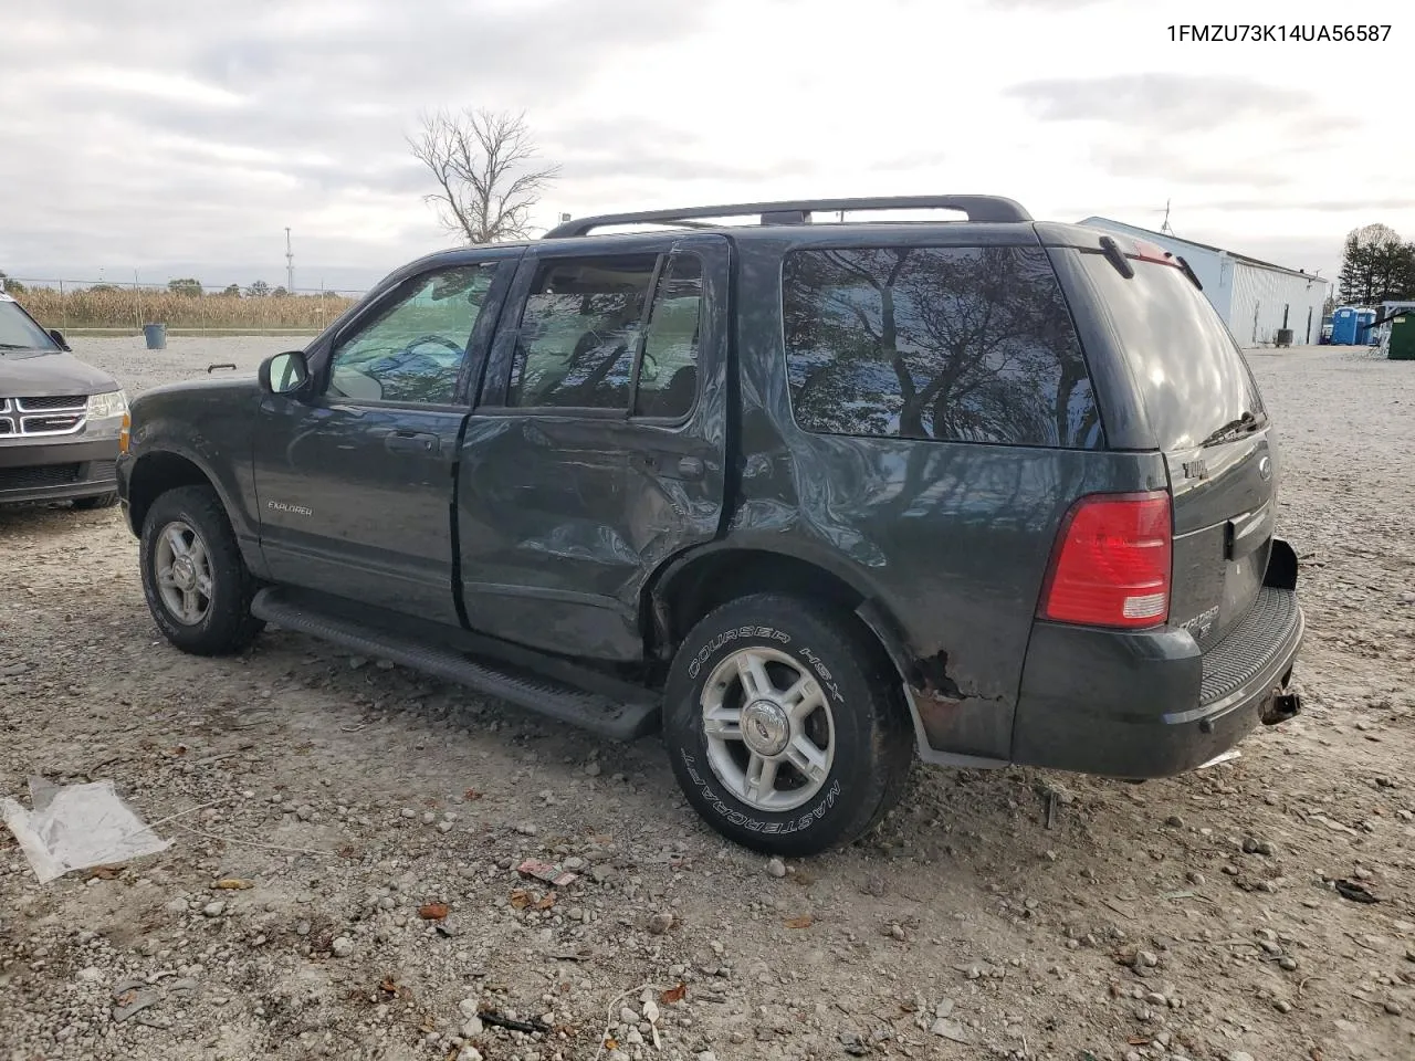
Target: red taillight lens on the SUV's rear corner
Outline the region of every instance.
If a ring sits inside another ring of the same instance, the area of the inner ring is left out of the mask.
[[[1088,627],[1169,618],[1169,494],[1098,494],[1073,505],[1051,557],[1040,615]]]

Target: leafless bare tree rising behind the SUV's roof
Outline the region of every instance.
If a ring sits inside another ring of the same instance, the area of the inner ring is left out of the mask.
[[[424,115],[409,147],[439,191],[424,197],[449,232],[468,243],[525,239],[531,208],[560,171],[538,166],[525,115],[439,110]]]

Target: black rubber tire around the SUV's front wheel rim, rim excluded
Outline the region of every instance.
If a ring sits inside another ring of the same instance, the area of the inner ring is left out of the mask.
[[[209,559],[209,596],[200,621],[184,622],[163,600],[157,583],[157,547],[163,532],[185,525],[200,539]],[[241,559],[231,521],[211,487],[178,487],[161,494],[147,509],[140,545],[143,596],[163,635],[183,652],[202,656],[232,655],[265,630],[250,614],[256,581]]]

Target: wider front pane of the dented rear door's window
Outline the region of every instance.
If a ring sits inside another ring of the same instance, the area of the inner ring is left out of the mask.
[[[521,314],[507,403],[628,410],[657,262],[625,255],[541,263]]]

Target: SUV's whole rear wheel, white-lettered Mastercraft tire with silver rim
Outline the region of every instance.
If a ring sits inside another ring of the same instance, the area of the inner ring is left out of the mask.
[[[692,630],[668,678],[664,740],[713,829],[787,856],[867,832],[914,760],[899,676],[867,634],[775,594],[732,601]]]

